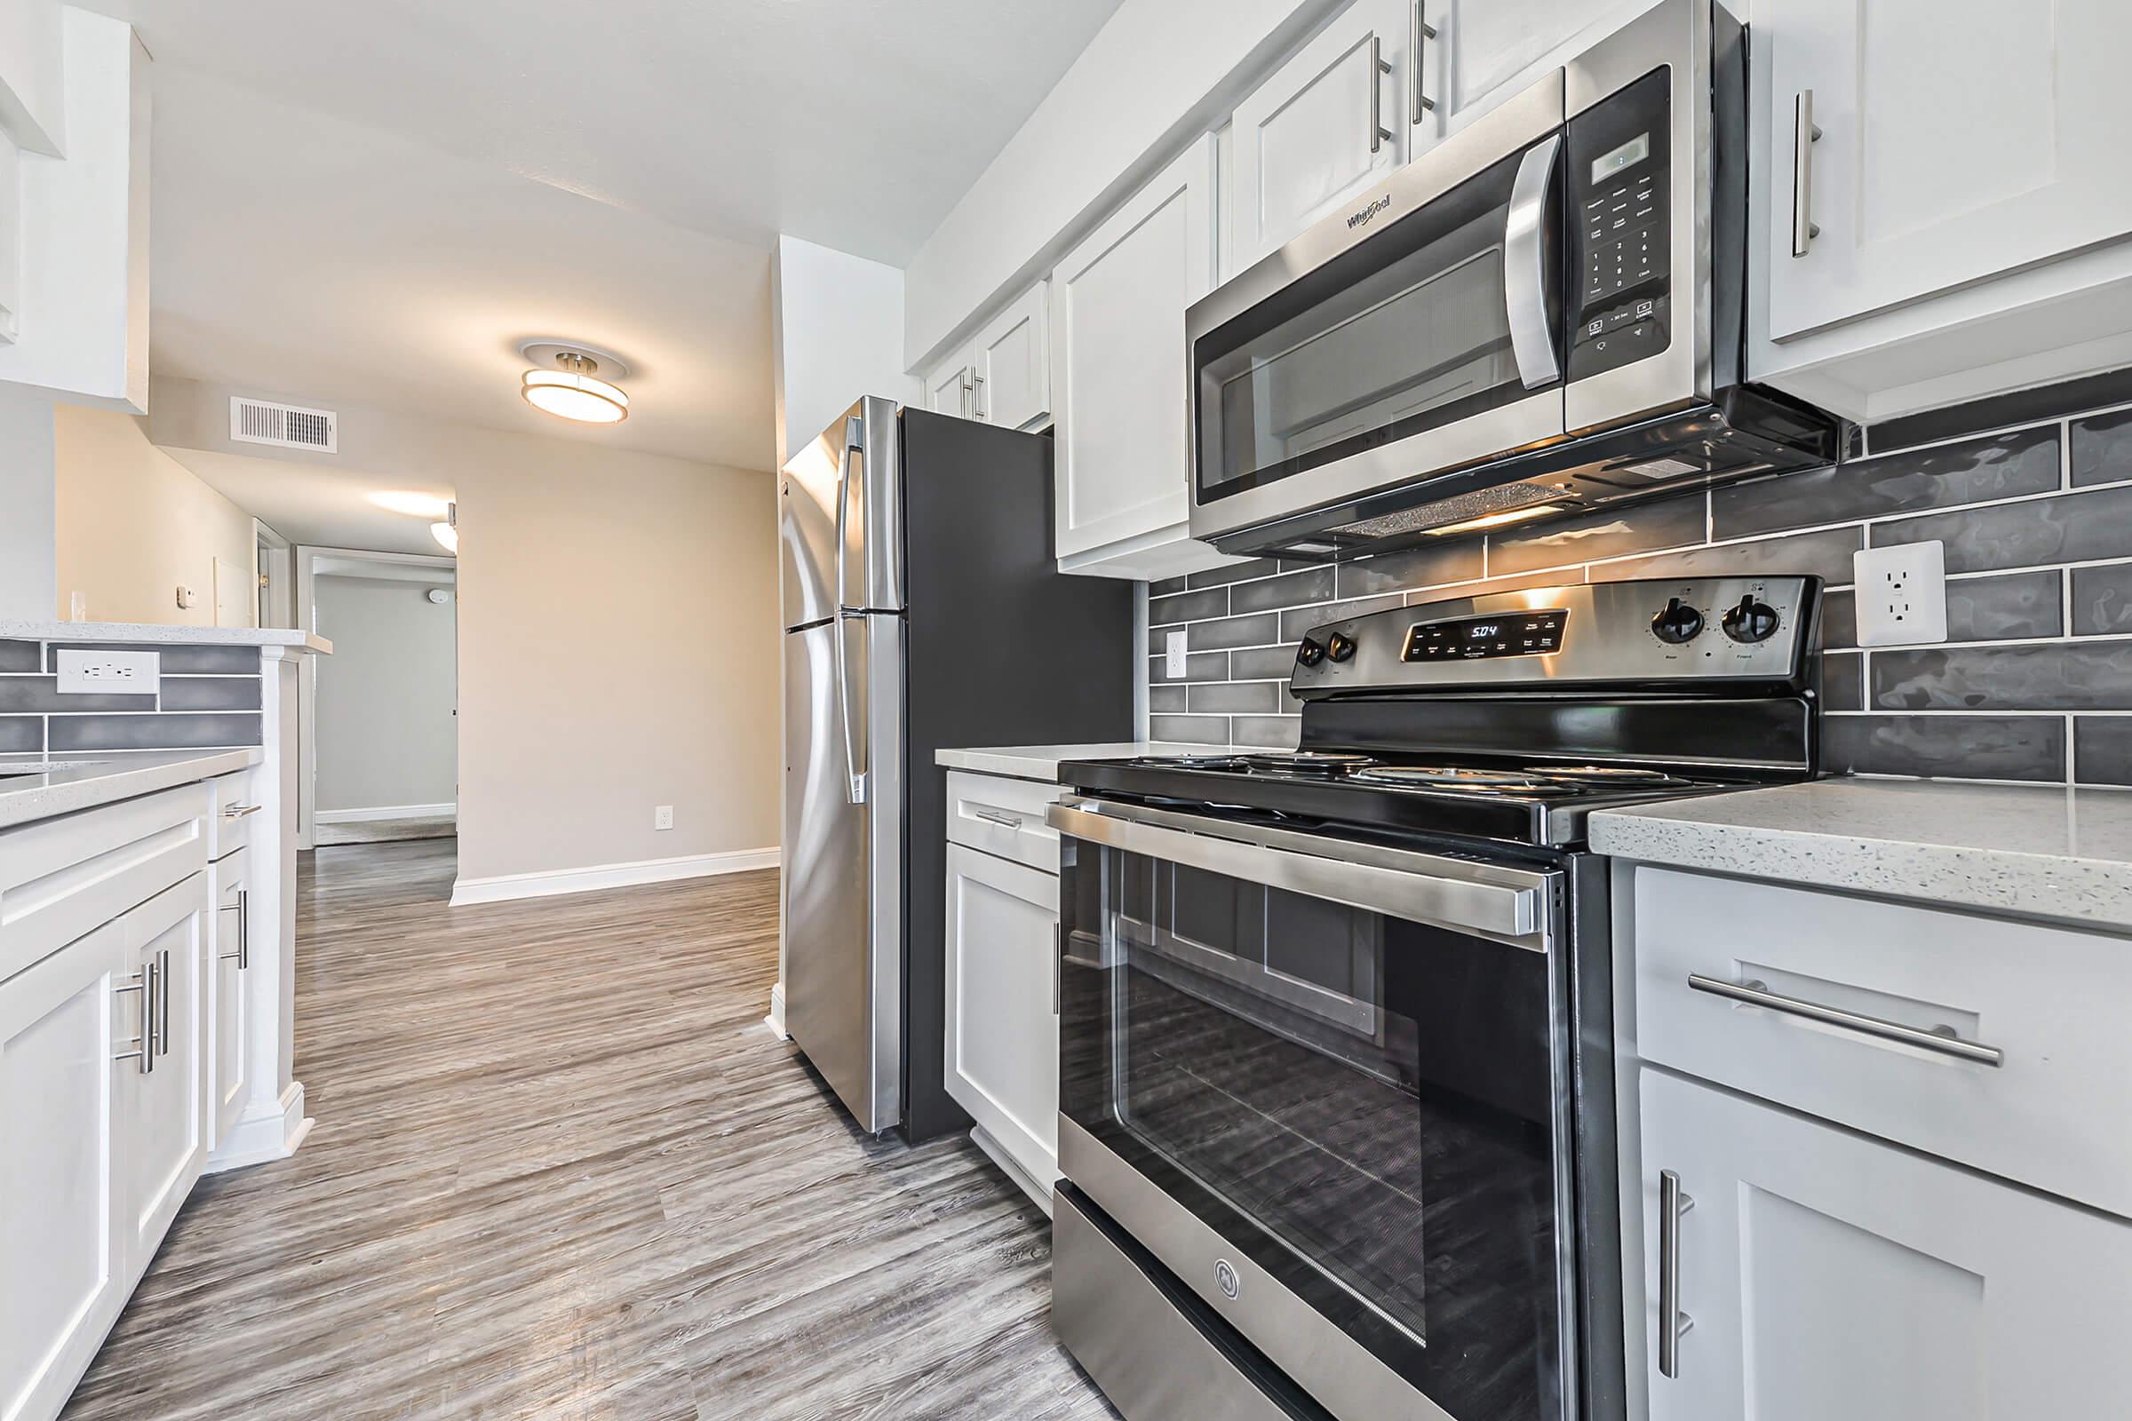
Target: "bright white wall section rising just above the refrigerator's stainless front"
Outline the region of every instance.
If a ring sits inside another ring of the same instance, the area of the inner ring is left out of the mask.
[[[904,273],[778,236],[770,254],[778,464],[866,394],[917,401],[904,375]]]

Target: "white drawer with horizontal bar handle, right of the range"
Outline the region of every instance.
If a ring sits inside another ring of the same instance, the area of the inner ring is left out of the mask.
[[[1635,871],[1646,1061],[2123,1216],[2128,1010],[2132,942]]]

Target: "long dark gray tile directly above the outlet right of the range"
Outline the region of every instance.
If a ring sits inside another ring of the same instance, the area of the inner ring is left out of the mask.
[[[2057,426],[1942,443],[1710,492],[1716,537],[1944,509],[2057,488]]]

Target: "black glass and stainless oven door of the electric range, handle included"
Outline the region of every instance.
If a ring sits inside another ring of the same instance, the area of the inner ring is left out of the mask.
[[[1341,1421],[1565,1419],[1561,876],[1049,820],[1066,1178]]]

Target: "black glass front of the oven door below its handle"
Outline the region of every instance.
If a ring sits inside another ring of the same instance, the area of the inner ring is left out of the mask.
[[[1070,856],[1066,1114],[1452,1415],[1556,1415],[1548,957]]]

